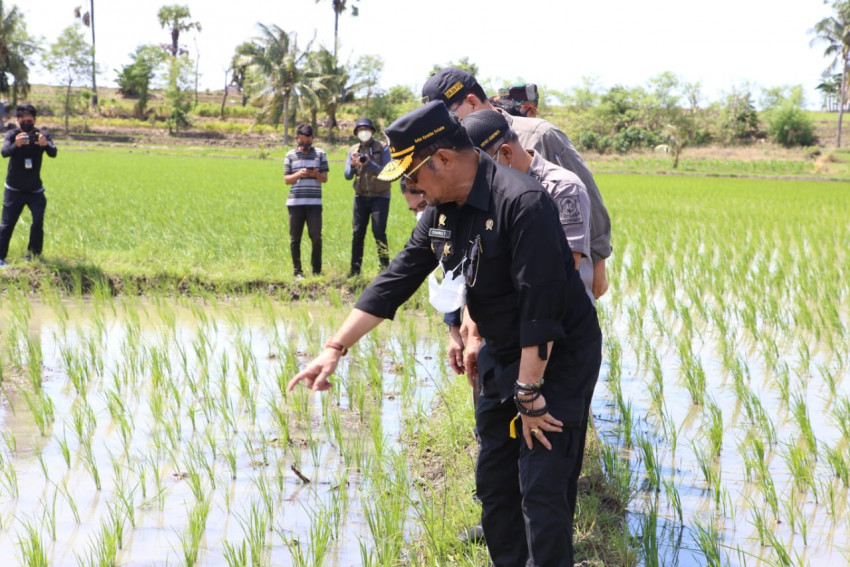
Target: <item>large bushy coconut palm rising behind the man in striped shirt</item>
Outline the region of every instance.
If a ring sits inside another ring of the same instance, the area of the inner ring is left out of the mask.
[[[255,100],[263,105],[263,116],[275,126],[283,116],[283,143],[288,145],[290,104],[309,88],[312,80],[307,69],[312,41],[301,51],[294,33],[288,34],[274,24],[257,26],[261,35],[240,45],[239,50],[261,81],[254,87]]]

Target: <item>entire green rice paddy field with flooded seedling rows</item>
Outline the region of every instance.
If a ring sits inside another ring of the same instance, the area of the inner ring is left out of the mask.
[[[342,157],[303,282],[276,155],[45,163],[45,264],[22,260],[25,215],[0,275],[4,564],[486,564],[455,538],[477,514],[472,409],[421,290],[331,395],[284,392],[363,283]],[[850,563],[850,183],[597,181],[615,250],[593,414],[627,510],[606,564]],[[391,251],[412,226],[396,194]],[[443,431],[457,458],[435,473]]]

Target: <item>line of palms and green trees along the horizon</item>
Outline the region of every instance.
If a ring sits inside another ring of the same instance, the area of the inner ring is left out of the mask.
[[[316,0],[322,2],[323,0]],[[409,87],[389,90],[379,87],[383,60],[363,55],[353,63],[337,57],[339,16],[357,15],[359,0],[331,0],[334,11],[334,46],[328,49],[314,41],[299,45],[295,33],[274,24],[258,23],[255,37],[239,44],[228,64],[223,81],[220,118],[226,119],[227,100],[240,99],[243,107],[254,109],[259,123],[283,127],[288,145],[290,131],[300,120],[324,129],[329,142],[339,134],[338,113],[344,105],[356,103],[358,112],[378,123],[387,124],[409,110],[418,97]],[[97,105],[94,50],[94,0],[89,10],[78,7],[75,19],[44,50],[39,50],[27,33],[17,7],[6,10],[0,0],[0,92],[11,93],[13,103],[29,90],[28,70],[40,53],[43,66],[61,85],[64,97],[65,128],[68,116]],[[817,89],[824,106],[839,115],[841,123],[848,104],[848,65],[850,65],[850,0],[835,0],[834,14],[812,29],[812,43],[826,45],[830,60],[824,80]],[[133,114],[151,116],[151,91],[164,91],[166,125],[170,132],[191,125],[198,105],[199,54],[193,58],[181,38],[201,32],[187,6],[162,6],[157,14],[160,26],[170,34],[163,44],[142,44],[130,54],[130,61],[116,70],[117,83],[126,97],[134,97]],[[91,29],[91,44],[83,26]],[[478,69],[467,58],[455,63],[475,75]],[[440,65],[435,65],[438,69]],[[837,72],[840,71],[840,72]],[[11,79],[11,80],[10,80]],[[72,87],[92,86],[91,93]],[[424,79],[424,77],[423,77]],[[486,84],[486,81],[484,81]],[[492,86],[492,85],[491,85]],[[501,86],[501,85],[496,85]],[[491,89],[495,92],[495,89]],[[756,94],[748,85],[733,88],[721,100],[707,103],[699,83],[686,83],[672,73],[650,79],[646,86],[616,85],[602,89],[585,80],[569,92],[543,89],[541,111],[554,122],[566,125],[574,143],[583,150],[627,152],[637,148],[669,151],[674,166],[688,146],[708,143],[743,144],[771,139],[784,146],[814,143],[814,126],[803,110],[801,87],[762,89],[756,107]],[[320,115],[322,118],[320,119]]]

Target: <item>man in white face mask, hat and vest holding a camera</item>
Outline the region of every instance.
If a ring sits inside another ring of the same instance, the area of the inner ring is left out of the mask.
[[[390,212],[391,183],[381,181],[377,175],[391,160],[390,149],[373,138],[375,126],[368,118],[354,123],[354,135],[360,140],[348,150],[345,162],[345,178],[354,179],[354,215],[351,236],[351,272],[348,277],[360,275],[363,263],[363,241],[366,227],[372,218],[372,234],[378,247],[381,269],[390,263],[387,247],[387,217]]]

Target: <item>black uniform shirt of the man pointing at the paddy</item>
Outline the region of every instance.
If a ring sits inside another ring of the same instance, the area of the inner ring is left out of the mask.
[[[428,207],[356,307],[391,319],[441,260],[455,268],[476,239],[480,258],[466,303],[492,354],[509,363],[523,347],[580,345],[595,317],[554,201],[531,176],[497,167],[483,152],[466,202]]]

